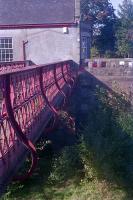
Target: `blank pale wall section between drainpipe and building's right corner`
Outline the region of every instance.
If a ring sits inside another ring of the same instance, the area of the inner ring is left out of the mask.
[[[26,56],[36,64],[57,62],[62,60],[80,60],[80,34],[78,27],[28,29]]]

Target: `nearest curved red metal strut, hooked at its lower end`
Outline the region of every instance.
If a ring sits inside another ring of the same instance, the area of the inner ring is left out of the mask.
[[[37,162],[38,162],[37,152],[36,152],[36,148],[34,144],[31,142],[31,140],[29,140],[26,137],[26,135],[23,133],[21,127],[19,126],[19,124],[17,123],[15,119],[12,104],[11,104],[10,75],[5,76],[5,91],[4,92],[5,92],[5,104],[6,104],[7,114],[8,114],[10,123],[16,133],[17,138],[31,153],[32,163],[31,163],[31,167],[29,171],[25,175],[18,176],[15,178],[16,181],[18,180],[24,181],[25,179],[29,178],[32,175],[37,165]]]

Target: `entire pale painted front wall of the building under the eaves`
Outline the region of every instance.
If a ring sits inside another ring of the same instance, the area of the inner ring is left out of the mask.
[[[36,64],[53,63],[63,60],[80,60],[80,33],[79,28],[68,28],[68,33],[63,33],[63,28],[49,29],[14,29],[0,30],[0,37],[13,38],[13,60],[23,60],[23,41],[26,44],[26,59]]]

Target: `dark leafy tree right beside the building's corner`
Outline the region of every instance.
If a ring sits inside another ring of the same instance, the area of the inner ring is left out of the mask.
[[[100,56],[115,49],[114,8],[109,0],[81,0],[81,19],[91,26],[92,47]]]

